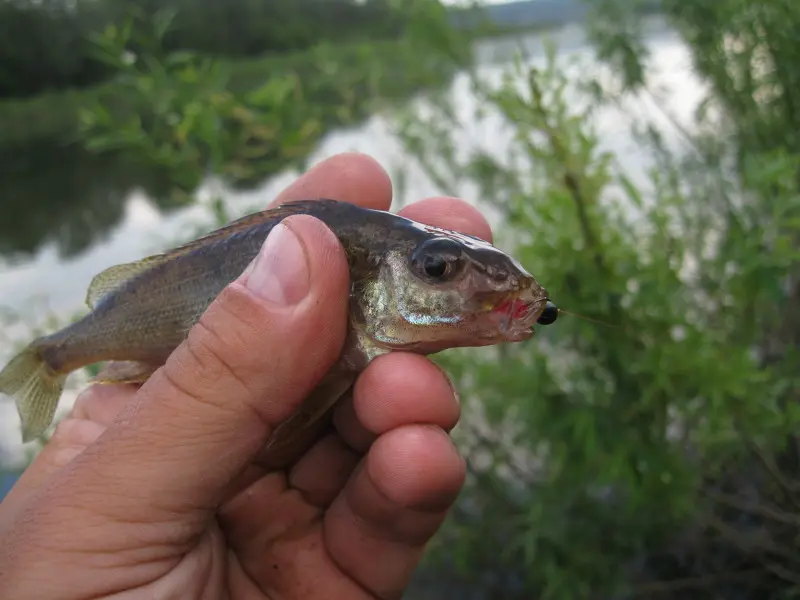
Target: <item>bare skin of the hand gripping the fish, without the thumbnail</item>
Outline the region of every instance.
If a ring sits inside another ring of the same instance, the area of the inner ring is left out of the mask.
[[[327,196],[386,210],[391,195],[375,161],[343,154],[273,204]],[[491,239],[485,219],[455,198],[401,214]],[[276,308],[235,282],[144,386],[81,394],[0,504],[4,594],[402,596],[464,481],[448,436],[458,399],[427,358],[380,357],[305,455],[284,471],[259,466],[269,432],[335,359],[344,334],[341,247],[316,219],[287,224],[310,269],[300,304]]]

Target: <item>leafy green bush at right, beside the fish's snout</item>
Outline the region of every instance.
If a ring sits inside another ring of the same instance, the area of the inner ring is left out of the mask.
[[[800,593],[800,153],[787,109],[800,5],[718,0],[691,16],[704,3],[690,4],[671,16],[712,92],[687,154],[655,129],[643,139],[652,193],[599,149],[593,111],[612,98],[552,52],[499,84],[474,75],[476,114],[441,101],[402,123],[434,181],[497,209],[499,242],[559,306],[604,323],[565,314],[531,343],[441,358],[463,392],[470,467],[420,574],[441,594]],[[616,83],[646,86],[635,29],[619,29],[632,23],[605,25]],[[588,108],[568,100],[587,89]],[[511,132],[506,152],[465,144],[486,114]]]

